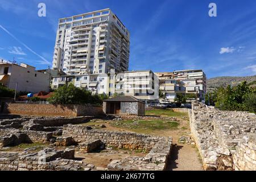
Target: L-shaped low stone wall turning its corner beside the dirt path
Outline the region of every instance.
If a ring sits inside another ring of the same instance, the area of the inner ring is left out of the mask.
[[[87,148],[89,147],[88,143],[96,148],[102,142],[106,147],[146,150],[149,152],[141,158],[131,156],[123,160],[113,160],[108,165],[108,169],[115,171],[163,171],[167,167],[172,148],[171,137],[151,137],[144,134],[97,129],[88,130],[85,126],[80,125],[64,126],[63,136],[72,137],[79,143],[82,150],[84,144]]]

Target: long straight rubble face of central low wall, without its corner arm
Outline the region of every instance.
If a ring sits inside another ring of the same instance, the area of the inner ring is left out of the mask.
[[[79,143],[100,139],[107,146],[147,151],[150,151],[159,140],[163,139],[162,137],[151,137],[150,135],[129,132],[88,130],[86,126],[81,125],[64,126],[63,137],[72,137]]]

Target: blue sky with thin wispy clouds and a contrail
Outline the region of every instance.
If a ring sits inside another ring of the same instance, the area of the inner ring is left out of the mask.
[[[46,3],[46,17],[38,3]],[[208,5],[217,4],[217,17]],[[109,7],[129,29],[130,70],[256,75],[255,0],[0,0],[0,57],[51,66],[59,18]]]

